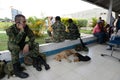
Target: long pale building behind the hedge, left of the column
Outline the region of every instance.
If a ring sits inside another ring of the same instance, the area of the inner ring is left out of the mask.
[[[108,10],[104,8],[94,8],[86,11],[71,13],[71,14],[64,14],[63,17],[71,17],[71,18],[78,18],[78,19],[88,19],[90,20],[93,17],[99,18],[102,17],[102,19],[106,20],[108,14]],[[114,13],[113,13],[114,17]]]

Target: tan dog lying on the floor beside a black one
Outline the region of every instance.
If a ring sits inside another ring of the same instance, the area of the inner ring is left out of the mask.
[[[69,49],[69,50],[64,50],[60,53],[58,53],[54,59],[56,61],[61,61],[62,59],[66,59],[68,62],[72,62],[70,59],[69,59],[69,56],[70,55],[73,55],[74,53],[77,53],[74,49]]]

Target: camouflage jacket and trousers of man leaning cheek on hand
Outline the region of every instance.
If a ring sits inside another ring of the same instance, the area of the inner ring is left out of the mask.
[[[6,33],[8,35],[8,49],[11,52],[13,64],[19,61],[19,52],[22,51],[25,44],[29,44],[29,55],[31,57],[44,55],[40,54],[39,44],[35,42],[35,36],[32,30],[27,25],[24,28],[24,31],[20,31],[19,29],[17,29],[16,25],[13,24],[8,29],[6,29]],[[26,41],[26,37],[28,37],[28,41]]]

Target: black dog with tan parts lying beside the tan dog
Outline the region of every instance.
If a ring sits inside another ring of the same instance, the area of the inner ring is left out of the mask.
[[[76,57],[74,59],[74,62],[89,61],[89,60],[91,60],[91,58],[89,56],[83,56],[80,53],[74,53],[73,55],[74,55],[74,57]]]

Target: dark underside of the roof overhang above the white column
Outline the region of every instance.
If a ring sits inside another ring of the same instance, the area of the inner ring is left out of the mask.
[[[82,1],[86,1],[91,4],[95,4],[97,6],[105,8],[105,9],[109,9],[110,0],[82,0]],[[112,10],[114,12],[120,13],[120,0],[113,0]]]

